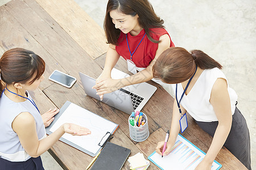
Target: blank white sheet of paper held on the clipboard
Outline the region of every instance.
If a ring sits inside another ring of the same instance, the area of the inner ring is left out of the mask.
[[[100,149],[98,143],[104,137],[107,131],[110,133],[116,128],[116,124],[111,121],[106,120],[87,111],[84,108],[79,107],[76,104],[71,103],[68,108],[61,114],[52,128],[49,130],[52,133],[59,128],[64,123],[72,123],[80,126],[84,126],[91,131],[91,134],[84,136],[73,136],[71,134],[65,133],[62,138],[75,143],[76,145],[84,148],[85,150],[96,154]]]

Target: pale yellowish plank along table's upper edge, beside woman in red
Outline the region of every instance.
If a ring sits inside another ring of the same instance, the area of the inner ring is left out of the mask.
[[[93,59],[106,53],[105,33],[75,1],[36,0]]]

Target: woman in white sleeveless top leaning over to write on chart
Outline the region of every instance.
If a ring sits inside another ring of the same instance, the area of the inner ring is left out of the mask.
[[[213,137],[205,158],[196,169],[210,169],[222,146],[251,169],[249,130],[236,107],[237,94],[229,87],[221,68],[220,63],[204,52],[189,53],[179,47],[165,50],[157,59],[152,68],[154,78],[172,84],[175,93],[170,137],[163,156],[174,146],[181,115],[188,113]],[[164,141],[158,143],[158,154],[162,155],[163,145]]]

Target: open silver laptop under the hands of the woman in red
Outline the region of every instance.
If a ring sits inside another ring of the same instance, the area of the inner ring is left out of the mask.
[[[100,96],[96,95],[96,90],[92,89],[96,84],[96,80],[83,73],[79,73],[79,75],[86,95],[100,100]],[[112,69],[111,76],[113,79],[120,79],[130,75],[114,68]],[[131,112],[141,111],[156,89],[155,86],[148,83],[134,84],[120,88],[110,94],[105,94],[102,102],[127,114],[131,114]]]

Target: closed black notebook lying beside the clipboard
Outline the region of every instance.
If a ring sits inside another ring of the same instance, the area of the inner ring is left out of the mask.
[[[108,142],[90,170],[121,169],[130,153],[131,150],[128,148]]]

